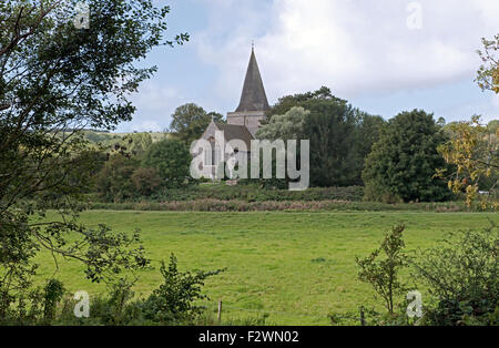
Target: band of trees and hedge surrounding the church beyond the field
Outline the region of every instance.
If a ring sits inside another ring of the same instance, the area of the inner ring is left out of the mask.
[[[421,110],[401,112],[385,121],[336,98],[327,88],[281,98],[257,133],[263,140],[309,140],[310,186],[316,191],[286,194],[286,180],[242,180],[238,186],[256,188],[238,191],[198,188],[207,180],[190,176],[190,145],[212,120],[223,122],[221,114],[191,103],[175,110],[169,133],[159,141],[150,133],[102,135],[106,137],[101,142],[105,155],[90,192],[98,201],[114,203],[186,197],[251,201],[252,195],[257,201],[298,201],[298,196],[303,201],[358,201],[358,194],[344,196],[319,190],[350,186],[364,187],[364,199],[383,203],[444,202],[459,193],[452,194],[448,178],[437,175],[456,168],[446,163],[440,150],[458,136],[452,131],[455,123],[437,122]],[[490,122],[487,132],[495,134],[497,123]],[[99,137],[85,136],[92,141]],[[482,175],[477,190],[493,187],[497,175],[492,174]]]

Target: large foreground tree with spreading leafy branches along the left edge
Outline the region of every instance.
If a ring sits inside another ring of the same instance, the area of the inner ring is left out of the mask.
[[[95,150],[79,131],[130,121],[130,93],[156,70],[138,68],[138,61],[154,47],[189,37],[166,40],[170,8],[150,0],[86,0],[90,28],[77,29],[77,2],[0,3],[2,305],[28,291],[40,249],[83,263],[93,282],[149,263],[136,233],[89,228],[74,219],[95,163]],[[63,216],[33,221],[48,208]]]

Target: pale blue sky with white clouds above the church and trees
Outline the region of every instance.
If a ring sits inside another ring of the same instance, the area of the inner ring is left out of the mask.
[[[498,0],[156,0],[170,4],[180,48],[154,50],[159,66],[118,131],[162,131],[176,106],[222,114],[238,104],[252,41],[269,103],[329,86],[390,119],[424,109],[448,122],[499,119],[499,98],[473,82],[480,38],[499,33]]]

